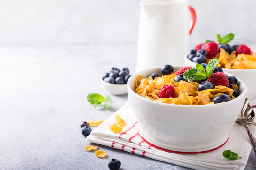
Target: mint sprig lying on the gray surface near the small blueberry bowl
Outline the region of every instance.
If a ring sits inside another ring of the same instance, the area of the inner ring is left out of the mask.
[[[91,105],[94,105],[95,108],[103,102],[105,102],[104,103],[105,109],[108,109],[110,107],[110,105],[112,104],[112,99],[110,96],[103,97],[102,95],[97,94],[97,93],[88,94],[87,100],[88,100],[88,102],[90,102]]]

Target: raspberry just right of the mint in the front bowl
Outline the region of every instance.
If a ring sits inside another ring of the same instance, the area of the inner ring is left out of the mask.
[[[229,86],[228,77],[222,72],[213,73],[206,81],[211,82],[214,87],[217,85]]]

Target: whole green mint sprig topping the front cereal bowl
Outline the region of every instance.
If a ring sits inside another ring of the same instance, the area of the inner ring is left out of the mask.
[[[211,59],[205,69],[201,64],[196,64],[196,68],[190,68],[183,73],[183,78],[187,81],[204,80],[210,77],[213,69],[219,64],[218,59]]]

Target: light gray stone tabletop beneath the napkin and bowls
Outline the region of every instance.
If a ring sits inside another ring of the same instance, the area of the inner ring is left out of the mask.
[[[105,110],[86,96],[110,95],[101,76],[112,66],[134,73],[136,51],[136,45],[0,48],[0,169],[107,170],[116,158],[121,170],[188,170],[99,144],[104,159],[84,150],[90,143],[82,121],[107,119],[128,99],[111,95]],[[253,152],[245,169],[256,169]]]

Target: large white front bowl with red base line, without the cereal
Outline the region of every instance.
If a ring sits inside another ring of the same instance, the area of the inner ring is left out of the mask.
[[[174,66],[175,70],[181,67]],[[127,83],[138,131],[147,143],[165,151],[188,154],[209,152],[225,144],[245,101],[246,86],[240,79],[240,95],[236,99],[188,106],[155,102],[135,93],[136,75],[149,76],[152,73],[160,74],[160,67],[137,72]]]

